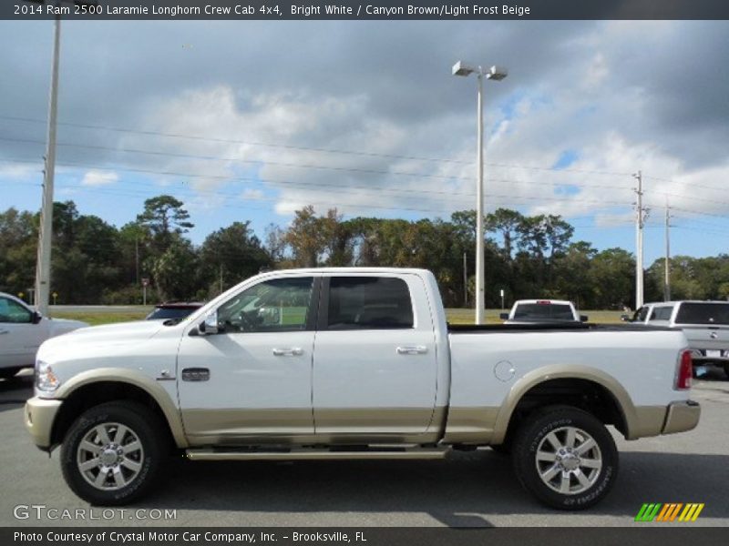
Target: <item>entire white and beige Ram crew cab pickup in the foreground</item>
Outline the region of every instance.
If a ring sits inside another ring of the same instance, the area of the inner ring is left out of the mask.
[[[510,449],[550,506],[600,501],[625,438],[693,429],[680,330],[449,327],[422,269],[249,278],[188,318],[46,341],[26,427],[77,495],[123,504],[191,460],[439,458]]]

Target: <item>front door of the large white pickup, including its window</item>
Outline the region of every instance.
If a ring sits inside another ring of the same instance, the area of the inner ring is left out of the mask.
[[[312,275],[262,280],[216,309],[217,333],[183,336],[177,381],[190,443],[313,434],[318,288]]]

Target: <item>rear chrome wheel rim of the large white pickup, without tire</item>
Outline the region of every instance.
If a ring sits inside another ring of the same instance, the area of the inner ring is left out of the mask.
[[[577,427],[552,430],[540,442],[535,458],[539,479],[562,495],[589,490],[602,470],[597,441]]]

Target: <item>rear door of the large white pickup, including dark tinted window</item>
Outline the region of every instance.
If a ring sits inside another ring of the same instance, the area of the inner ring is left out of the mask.
[[[435,405],[436,340],[422,279],[323,278],[313,359],[316,434],[422,434]]]

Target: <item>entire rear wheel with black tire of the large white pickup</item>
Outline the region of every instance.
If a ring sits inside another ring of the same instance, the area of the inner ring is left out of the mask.
[[[512,459],[521,485],[559,510],[597,504],[618,475],[618,450],[610,432],[587,411],[570,406],[546,408],[525,420]]]

